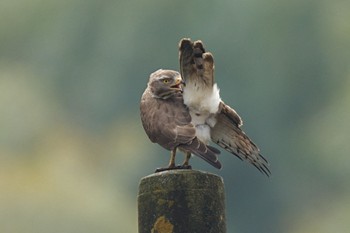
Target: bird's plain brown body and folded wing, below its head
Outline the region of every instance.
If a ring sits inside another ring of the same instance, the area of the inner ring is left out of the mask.
[[[212,166],[221,168],[217,157],[219,151],[196,137],[196,129],[191,124],[191,116],[180,95],[161,100],[146,93],[140,110],[144,129],[152,142],[168,150],[178,147],[189,151]]]

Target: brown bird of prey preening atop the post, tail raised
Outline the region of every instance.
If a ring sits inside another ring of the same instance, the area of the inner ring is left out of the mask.
[[[201,41],[182,39],[179,44],[180,73],[158,70],[151,74],[141,98],[141,121],[154,143],[171,151],[167,168],[190,168],[191,154],[220,169],[220,151],[214,142],[269,176],[267,160],[242,131],[240,116],[220,98],[214,81],[214,59]],[[182,77],[182,79],[181,79]],[[175,166],[176,150],[186,153]]]

